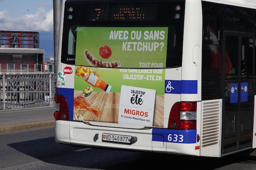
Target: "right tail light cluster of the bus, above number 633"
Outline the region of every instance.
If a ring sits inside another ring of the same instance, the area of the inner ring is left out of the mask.
[[[196,129],[196,102],[177,102],[170,111],[169,129]]]

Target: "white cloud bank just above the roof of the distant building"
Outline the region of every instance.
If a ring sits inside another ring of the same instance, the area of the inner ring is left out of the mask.
[[[17,18],[9,16],[8,11],[0,11],[0,28],[7,31],[53,31],[53,9],[45,12],[39,7],[35,14],[26,14]]]

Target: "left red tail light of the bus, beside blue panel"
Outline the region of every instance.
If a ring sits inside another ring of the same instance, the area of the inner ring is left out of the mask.
[[[63,95],[55,95],[54,101],[58,107],[55,107],[54,118],[56,120],[69,120],[68,102]]]

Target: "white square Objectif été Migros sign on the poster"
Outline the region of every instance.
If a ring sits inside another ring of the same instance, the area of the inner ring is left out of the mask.
[[[118,123],[153,126],[155,90],[121,87]]]

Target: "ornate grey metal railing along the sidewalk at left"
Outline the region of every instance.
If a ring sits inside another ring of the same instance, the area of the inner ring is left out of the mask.
[[[1,74],[0,110],[53,105],[56,74]]]

